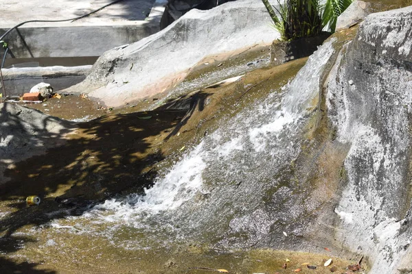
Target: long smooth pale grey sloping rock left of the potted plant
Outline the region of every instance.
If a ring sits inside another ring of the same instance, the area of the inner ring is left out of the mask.
[[[106,51],[84,82],[69,92],[89,92],[118,106],[165,91],[207,55],[270,44],[279,34],[261,1],[191,10],[161,32]]]

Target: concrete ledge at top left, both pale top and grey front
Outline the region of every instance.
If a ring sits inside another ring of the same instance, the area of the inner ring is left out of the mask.
[[[36,2],[38,6],[34,6]],[[0,23],[0,34],[22,21],[73,18],[112,1],[94,2],[57,0],[56,5],[60,6],[49,9],[45,9],[39,0],[23,2],[21,7],[19,3],[9,3],[10,7],[6,5],[2,10],[7,16]],[[30,16],[24,17],[19,12],[27,14],[23,10],[26,5],[32,10]],[[108,49],[137,42],[159,32],[164,5],[165,0],[124,0],[78,21],[27,23],[10,32],[3,40],[8,42],[16,58],[100,56]],[[59,12],[60,16],[53,12]],[[147,17],[142,14],[145,12]],[[2,55],[3,51],[0,51],[0,58]]]

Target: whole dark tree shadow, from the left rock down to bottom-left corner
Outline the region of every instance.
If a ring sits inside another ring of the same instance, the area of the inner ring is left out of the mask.
[[[179,132],[196,111],[203,111],[209,95],[198,92],[151,112],[102,116],[75,124],[75,132],[71,122],[44,116],[37,110],[0,105],[0,132],[3,133],[0,137],[8,138],[10,151],[23,147],[22,154],[40,153],[46,152],[45,145],[49,147],[47,153],[20,162],[13,153],[0,154],[0,167],[7,166],[1,164],[7,161],[14,163],[4,172],[10,181],[0,184],[0,212],[3,213],[0,254],[7,255],[18,250],[21,243],[33,242],[31,238],[14,234],[22,227],[81,215],[96,203],[116,195],[144,194],[144,188],[150,188],[157,177],[155,164],[166,157],[161,146]],[[12,115],[10,108],[14,110]],[[26,112],[37,115],[36,123],[27,125]],[[54,125],[52,122],[62,122],[65,126],[50,133],[46,128]],[[56,144],[62,145],[54,147]],[[25,197],[30,195],[41,197],[41,203],[27,206]],[[54,273],[38,271],[37,264],[17,263],[1,255],[0,262],[3,269]]]

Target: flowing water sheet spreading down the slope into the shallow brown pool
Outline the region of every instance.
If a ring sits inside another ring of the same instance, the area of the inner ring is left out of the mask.
[[[318,96],[319,78],[334,53],[332,43],[314,53],[282,90],[273,90],[192,147],[144,195],[107,200],[52,226],[105,236],[126,249],[194,238],[250,247],[286,229],[283,215],[297,216],[302,209],[290,204],[289,212],[282,212],[288,201],[280,197],[299,189],[282,179],[282,173],[301,149],[299,129]]]

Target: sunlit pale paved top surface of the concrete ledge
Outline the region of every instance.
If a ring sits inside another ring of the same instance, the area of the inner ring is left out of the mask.
[[[0,28],[8,28],[28,20],[61,20],[74,18],[97,10],[115,0],[0,0]],[[60,25],[117,25],[144,21],[155,0],[123,0],[75,22]],[[49,23],[30,23],[30,26],[49,26]]]

